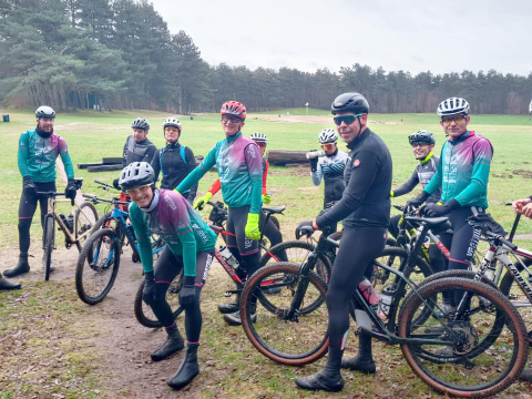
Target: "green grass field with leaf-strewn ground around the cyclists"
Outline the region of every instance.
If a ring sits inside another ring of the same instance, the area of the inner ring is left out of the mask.
[[[306,112],[305,109],[289,111],[293,115],[305,115]],[[14,265],[18,247],[17,212],[21,192],[21,176],[17,166],[18,139],[21,132],[34,126],[34,117],[30,111],[0,110],[0,113],[9,113],[11,120],[10,123],[0,122],[2,136],[0,195],[3,200],[0,205],[0,252],[2,253],[0,269],[3,270]],[[286,110],[269,112],[269,114],[285,113]],[[309,110],[309,115],[329,116],[329,113]],[[162,123],[167,114],[161,112],[60,113],[55,120],[55,132],[69,144],[75,166],[78,163],[100,161],[103,156],[120,156],[125,139],[131,133],[131,121],[137,116],[149,119],[152,125],[149,139],[158,147],[163,146]],[[393,158],[393,186],[405,182],[416,166],[407,141],[408,134],[420,129],[434,132],[437,154],[444,140],[438,117],[432,114],[372,114],[370,120],[377,122],[371,124],[370,129],[378,133],[390,149]],[[471,130],[490,139],[494,147],[489,185],[489,212],[507,229],[510,229],[514,216],[504,203],[532,194],[532,161],[529,155],[532,143],[532,122],[528,116],[510,115],[472,115],[471,121]],[[196,155],[205,155],[215,142],[223,139],[219,116],[216,114],[194,116],[193,121],[183,116],[182,122],[184,129],[181,142],[193,149]],[[328,124],[269,122],[260,119],[260,115],[250,114],[243,132],[244,134],[257,131],[265,133],[268,136],[270,150],[310,150],[318,146],[317,136],[324,127],[334,127],[332,121],[330,120]],[[340,144],[340,149],[344,145]],[[86,170],[75,167],[74,171],[76,176],[84,177],[84,193],[108,197],[109,194],[98,191],[93,180],[112,182],[119,174],[117,172],[88,173]],[[270,171],[268,188],[273,193],[272,205],[287,206],[285,216],[280,216],[280,223],[285,237],[289,239],[300,221],[311,219],[318,214],[323,203],[323,187],[313,186],[308,168],[272,167]],[[214,178],[215,175],[208,173],[201,182],[198,193],[203,193]],[[58,180],[59,187],[62,187],[62,183]],[[393,202],[403,204],[409,197],[407,195]],[[65,213],[68,211],[68,208],[64,209]],[[99,212],[103,212],[103,208],[99,208]],[[518,234],[528,233],[532,233],[532,222],[523,221]],[[38,258],[41,229],[37,218],[31,234],[33,239],[30,252]],[[518,244],[532,248],[531,241],[528,239],[518,241]],[[75,249],[62,254],[72,264],[75,263]],[[136,278],[140,278],[140,275]],[[215,303],[224,300],[221,290],[206,290],[203,299]],[[294,388],[295,377],[317,370],[323,366],[323,360],[304,369],[279,367],[258,355],[245,339],[242,329],[227,329],[222,326],[214,306],[205,307],[203,311],[205,325],[202,341],[205,342],[203,346],[205,351],[202,356],[224,359],[224,365],[222,360],[216,360],[221,364],[205,370],[202,366],[202,375],[198,377],[202,379],[196,383],[196,388],[193,388],[194,397],[328,397],[325,393],[306,393]],[[130,390],[126,388],[121,390],[110,382],[109,370],[102,369],[98,361],[103,355],[99,352],[99,348],[94,348],[89,340],[85,340],[88,336],[105,334],[101,329],[110,323],[108,313],[105,310],[104,315],[102,308],[88,308],[82,305],[76,299],[72,278],[57,282],[52,277],[52,282],[48,285],[40,282],[24,282],[23,290],[0,294],[0,320],[2,320],[0,355],[3,359],[0,369],[0,398],[131,397]],[[9,323],[3,323],[8,318]],[[91,320],[94,319],[100,323],[92,323]],[[72,339],[74,334],[82,339]],[[157,339],[161,340],[162,336]],[[349,344],[351,348],[356,347],[356,338],[350,337]],[[12,346],[18,349],[12,349]],[[58,347],[57,350],[55,347]],[[58,356],[58,351],[61,356]],[[352,398],[357,395],[379,398],[437,397],[420,380],[411,378],[412,372],[402,361],[398,348],[378,346],[377,359],[380,371],[376,376],[344,374],[346,389],[335,397]],[[24,370],[31,371],[24,374]],[[35,372],[37,376],[28,377]],[[170,374],[171,371],[167,371],[165,376],[168,377]],[[408,376],[407,379],[405,376]],[[164,386],[158,377],[153,378],[154,383]],[[525,385],[515,385],[508,391],[508,397],[516,397],[530,390],[529,388]],[[243,395],[243,392],[246,393]],[[167,395],[170,391],[163,389],[163,397]],[[139,397],[151,396],[140,393]],[[178,397],[178,393],[172,397]]]

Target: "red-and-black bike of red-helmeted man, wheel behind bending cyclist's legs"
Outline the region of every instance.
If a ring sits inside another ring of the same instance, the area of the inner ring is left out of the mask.
[[[227,222],[227,208],[221,202],[217,202],[217,203],[208,202],[208,205],[212,206],[212,209],[208,216],[208,219],[212,223],[208,226],[213,229],[214,233],[216,233],[216,235],[221,236],[224,244],[226,244],[226,239],[227,239],[226,237],[228,235],[234,235],[232,233],[228,233],[225,229],[225,224]],[[268,253],[269,249],[265,246],[266,243],[263,241],[264,226],[267,225],[270,218],[275,217],[274,214],[283,214],[284,209],[285,209],[284,205],[273,206],[273,207],[263,206],[263,212],[265,213],[266,217],[260,227],[259,246],[266,253]],[[242,288],[244,287],[244,280],[241,277],[241,274],[238,273],[237,263],[235,263],[234,259],[228,259],[222,254],[222,253],[225,253],[224,247],[225,247],[224,245],[219,246],[218,249],[215,250],[214,257],[222,265],[224,270],[227,273],[227,275],[231,277],[231,279],[235,284],[235,289],[229,289],[225,291],[225,297],[231,297],[232,295],[236,295],[242,291]],[[178,315],[181,315],[181,313],[183,311],[183,308],[180,306],[180,300],[178,300],[182,286],[183,286],[183,270],[173,279],[173,282],[168,287],[168,290],[166,291],[166,301],[172,308],[174,319]],[[135,317],[137,321],[145,327],[160,328],[162,327],[161,323],[158,321],[156,316],[153,314],[151,307],[146,303],[144,303],[144,300],[142,299],[143,290],[144,290],[144,280],[142,282],[135,295],[135,303],[134,303]],[[268,298],[265,297],[263,301],[266,304],[268,301]]]

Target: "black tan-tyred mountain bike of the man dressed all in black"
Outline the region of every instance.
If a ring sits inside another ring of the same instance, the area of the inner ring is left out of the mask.
[[[402,270],[374,260],[374,267],[395,275],[393,284],[381,294],[379,306],[385,318],[359,290],[354,294],[350,315],[357,321],[356,334],[400,345],[412,371],[436,390],[454,396],[495,395],[519,377],[526,362],[529,341],[518,310],[501,291],[484,283],[448,277],[417,285],[408,277],[427,231],[441,227],[446,221],[417,218],[424,228]],[[319,284],[319,276],[313,272],[315,262],[313,254],[303,266],[279,263],[263,267],[242,291],[241,317],[246,336],[272,360],[300,366],[327,351],[326,306],[300,313],[304,304],[316,301],[318,295],[326,293],[327,287]],[[291,276],[288,280],[287,274]],[[259,313],[265,284],[287,293],[279,295],[284,304],[279,299],[275,314]],[[464,293],[462,300],[448,318],[440,317],[443,296],[456,290]],[[254,313],[256,320],[252,323]],[[501,325],[502,328],[493,328]]]

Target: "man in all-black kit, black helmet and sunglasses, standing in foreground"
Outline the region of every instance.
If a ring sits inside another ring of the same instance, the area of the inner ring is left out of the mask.
[[[344,235],[335,259],[327,291],[329,311],[329,356],[325,369],[296,383],[304,389],[339,391],[344,387],[341,368],[375,372],[371,337],[359,336],[359,351],[342,359],[349,332],[349,301],[370,276],[370,263],[386,244],[390,222],[391,156],[385,142],[368,127],[369,105],[359,93],[336,98],[331,112],[338,133],[350,150],[346,165],[346,190],[330,211],[313,222],[303,222],[303,233],[344,221]],[[369,266],[369,267],[368,267]]]

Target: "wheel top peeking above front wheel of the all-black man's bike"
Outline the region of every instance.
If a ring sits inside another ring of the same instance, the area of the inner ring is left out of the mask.
[[[280,244],[277,244],[270,247],[259,260],[259,267],[266,265],[272,265],[274,263],[280,262],[279,255],[284,250],[289,263],[295,263],[297,265],[303,265],[304,262],[308,259],[308,256],[314,253],[316,247],[308,242],[304,241],[287,241]],[[325,254],[318,254],[318,262],[316,263],[315,272],[320,276],[326,283],[329,280],[330,270],[332,268],[332,263],[328,256]]]

